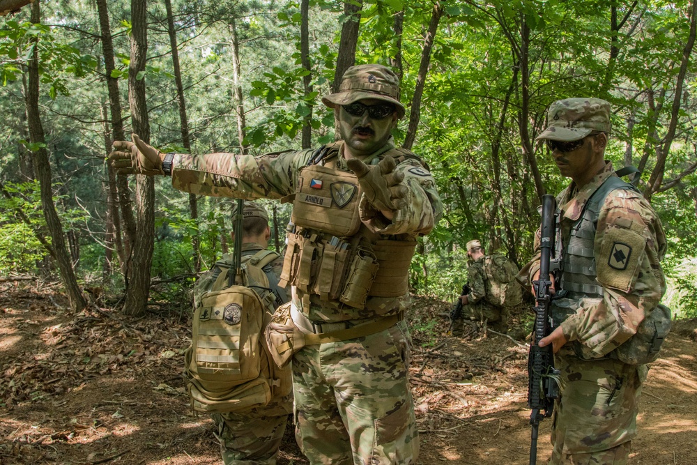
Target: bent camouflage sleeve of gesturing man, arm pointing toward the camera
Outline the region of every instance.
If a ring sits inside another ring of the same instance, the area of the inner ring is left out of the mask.
[[[378,234],[429,234],[443,215],[443,204],[433,176],[412,159],[399,163],[395,171],[404,173],[404,184],[408,188],[406,206],[397,210],[390,221],[372,208],[365,198],[361,199],[362,222]]]

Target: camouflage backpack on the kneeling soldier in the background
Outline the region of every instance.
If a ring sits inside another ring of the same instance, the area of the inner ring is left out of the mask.
[[[484,257],[484,273],[487,275],[487,302],[497,307],[512,307],[523,301],[521,286],[516,281],[518,267],[501,254]]]

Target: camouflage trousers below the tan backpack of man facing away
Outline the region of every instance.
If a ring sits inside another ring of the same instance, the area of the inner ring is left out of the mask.
[[[272,401],[273,402],[273,401]],[[292,397],[245,413],[213,413],[225,465],[275,465]]]

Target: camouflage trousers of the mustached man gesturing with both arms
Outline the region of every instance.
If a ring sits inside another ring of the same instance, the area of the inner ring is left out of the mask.
[[[404,321],[293,356],[296,440],[310,464],[408,465],[419,451]]]

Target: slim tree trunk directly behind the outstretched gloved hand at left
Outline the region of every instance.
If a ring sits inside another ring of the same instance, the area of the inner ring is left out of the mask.
[[[109,27],[109,11],[107,10],[107,0],[96,0],[99,15],[99,26],[102,40],[102,56],[104,57],[105,79],[107,80],[107,92],[109,93],[109,111],[111,113],[112,137],[114,140],[123,140],[123,117],[121,116],[121,98],[118,93],[118,79],[112,77],[114,71],[114,45],[112,43],[112,32]],[[111,151],[112,141],[106,141],[107,153]],[[109,171],[110,169],[110,171]],[[120,174],[116,176],[111,168],[107,168],[109,178],[109,196],[112,197],[112,211],[114,219],[114,238],[116,243],[116,253],[118,254],[121,273],[125,275],[128,257],[132,250],[132,243],[135,241],[135,218],[131,207],[130,190],[128,188],[128,178]],[[121,210],[121,220],[119,220],[119,208]],[[123,229],[121,228],[123,223]],[[122,231],[125,236],[122,236]],[[123,237],[123,241],[122,238]]]

